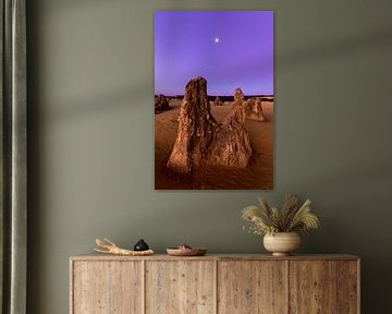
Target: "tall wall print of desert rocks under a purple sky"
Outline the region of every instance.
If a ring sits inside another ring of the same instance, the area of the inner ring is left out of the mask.
[[[273,189],[273,11],[157,11],[155,188]]]

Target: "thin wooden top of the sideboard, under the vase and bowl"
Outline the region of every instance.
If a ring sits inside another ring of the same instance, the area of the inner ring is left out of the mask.
[[[348,254],[294,254],[290,256],[272,256],[269,254],[206,254],[205,256],[170,256],[168,254],[155,254],[150,256],[119,256],[110,254],[81,254],[70,257],[71,261],[226,261],[226,259],[243,259],[243,261],[358,261],[359,257]]]

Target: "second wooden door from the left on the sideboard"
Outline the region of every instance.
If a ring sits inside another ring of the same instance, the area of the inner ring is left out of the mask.
[[[215,263],[146,263],[146,313],[215,313]]]

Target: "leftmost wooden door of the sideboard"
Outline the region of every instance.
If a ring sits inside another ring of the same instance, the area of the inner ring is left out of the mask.
[[[142,263],[74,261],[71,313],[143,313]]]

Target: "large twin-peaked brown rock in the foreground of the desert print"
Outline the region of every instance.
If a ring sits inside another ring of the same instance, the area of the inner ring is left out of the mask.
[[[240,94],[225,121],[218,123],[210,112],[207,81],[195,77],[187,83],[177,135],[168,161],[170,169],[188,174],[203,165],[240,168],[248,165],[252,148],[245,129],[244,95]]]

